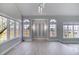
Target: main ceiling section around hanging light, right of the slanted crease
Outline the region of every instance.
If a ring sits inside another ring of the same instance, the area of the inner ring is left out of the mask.
[[[39,4],[17,4],[23,16],[41,15]],[[45,4],[42,15],[79,15],[79,4]]]

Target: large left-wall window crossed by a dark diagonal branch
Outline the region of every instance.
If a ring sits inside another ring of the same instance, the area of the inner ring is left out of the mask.
[[[0,16],[0,43],[7,40],[7,18]]]

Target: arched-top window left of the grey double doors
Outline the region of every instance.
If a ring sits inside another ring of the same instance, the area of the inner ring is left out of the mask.
[[[25,19],[23,21],[23,26],[24,26],[23,36],[30,37],[30,20]]]

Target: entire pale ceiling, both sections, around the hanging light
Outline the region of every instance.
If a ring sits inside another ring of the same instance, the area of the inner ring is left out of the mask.
[[[77,15],[79,16],[78,3],[46,3],[43,13],[38,12],[39,3],[0,4],[0,12],[11,17],[21,19],[21,16],[42,15]]]

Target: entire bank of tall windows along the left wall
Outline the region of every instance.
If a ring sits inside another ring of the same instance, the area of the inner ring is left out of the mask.
[[[16,23],[16,26],[15,26]],[[20,35],[20,23],[0,16],[0,44]]]

